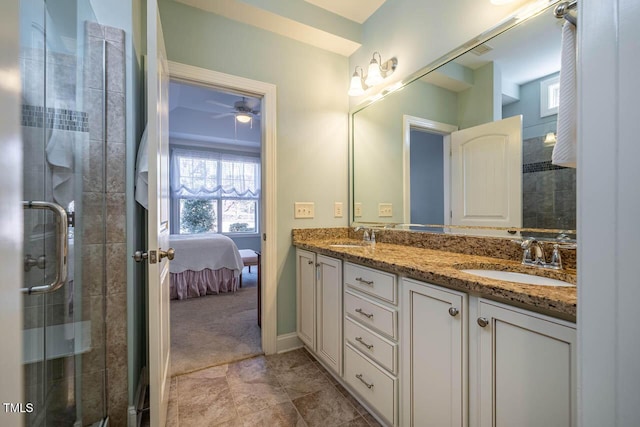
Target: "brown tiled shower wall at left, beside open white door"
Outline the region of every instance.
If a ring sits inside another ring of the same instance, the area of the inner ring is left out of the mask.
[[[87,23],[85,99],[89,113],[90,150],[84,159],[84,193],[87,248],[83,265],[85,280],[97,284],[104,272],[104,289],[88,296],[91,316],[105,316],[105,363],[83,363],[104,369],[106,396],[99,384],[85,384],[87,394],[104,398],[110,426],[127,425],[127,280],[125,207],[125,33],[96,23]],[[104,53],[103,53],[104,52]],[[103,56],[104,55],[104,56]],[[103,79],[103,68],[106,77]],[[106,118],[103,122],[103,113]],[[97,173],[102,171],[102,173]],[[105,203],[101,203],[103,200]],[[91,211],[91,209],[94,211]],[[101,246],[101,242],[104,245]],[[91,266],[89,268],[88,266]],[[93,288],[92,288],[93,289]],[[100,300],[101,296],[104,298]],[[95,312],[94,312],[95,309]],[[89,373],[88,372],[88,373]],[[92,374],[96,374],[93,372]],[[87,400],[85,409],[95,405]],[[97,403],[97,402],[96,402]],[[93,420],[83,417],[83,422]]]

